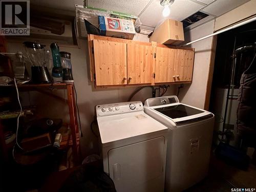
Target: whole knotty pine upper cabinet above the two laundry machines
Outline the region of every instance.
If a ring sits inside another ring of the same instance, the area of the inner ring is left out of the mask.
[[[194,49],[156,42],[88,36],[91,81],[96,86],[189,83]]]

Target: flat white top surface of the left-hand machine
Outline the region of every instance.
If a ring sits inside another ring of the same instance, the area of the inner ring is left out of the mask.
[[[98,117],[101,143],[110,143],[150,133],[167,132],[168,128],[143,111]]]

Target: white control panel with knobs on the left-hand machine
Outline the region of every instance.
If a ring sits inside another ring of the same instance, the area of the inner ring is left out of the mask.
[[[141,101],[102,104],[96,106],[97,117],[143,111]]]

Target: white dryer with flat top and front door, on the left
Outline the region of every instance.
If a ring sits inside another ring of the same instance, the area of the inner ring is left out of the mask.
[[[168,128],[140,101],[96,106],[104,172],[118,192],[164,191]]]

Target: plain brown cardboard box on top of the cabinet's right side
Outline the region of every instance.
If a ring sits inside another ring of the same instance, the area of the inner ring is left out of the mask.
[[[166,19],[154,30],[150,41],[157,41],[159,44],[179,45],[184,41],[182,22]]]

